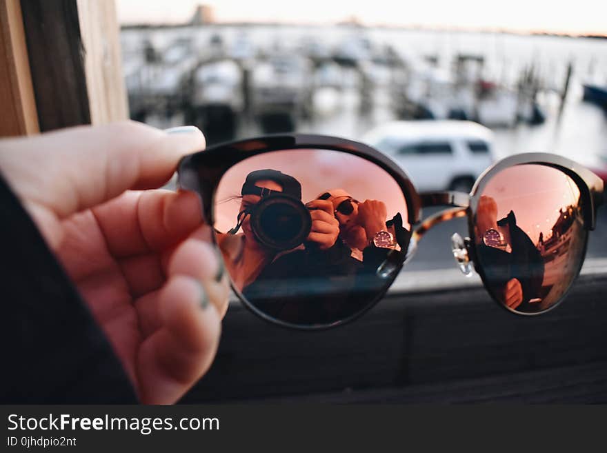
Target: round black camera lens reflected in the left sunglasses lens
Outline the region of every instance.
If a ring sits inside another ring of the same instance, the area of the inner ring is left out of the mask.
[[[250,208],[255,239],[272,250],[290,250],[310,234],[312,217],[304,203],[285,194],[272,193]]]

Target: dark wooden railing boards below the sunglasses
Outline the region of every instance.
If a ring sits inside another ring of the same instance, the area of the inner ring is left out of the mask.
[[[462,382],[468,400],[605,401],[606,284],[607,274],[581,276],[562,305],[533,317],[497,307],[484,288],[390,294],[361,319],[323,332],[278,328],[231,305],[217,359],[183,402],[319,401],[324,394],[327,401],[359,394],[415,401],[422,388],[434,401],[451,401]],[[584,393],[584,373],[595,363],[603,365]],[[550,370],[554,378],[540,379]],[[501,393],[510,378],[524,385],[523,396],[515,385]],[[483,392],[474,390],[479,379],[489,379]]]

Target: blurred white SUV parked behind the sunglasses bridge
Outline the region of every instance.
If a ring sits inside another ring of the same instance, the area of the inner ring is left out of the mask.
[[[472,121],[394,121],[361,141],[399,163],[421,191],[470,192],[495,161],[493,133]]]

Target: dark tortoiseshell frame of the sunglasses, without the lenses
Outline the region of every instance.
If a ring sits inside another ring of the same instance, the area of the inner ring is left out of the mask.
[[[385,154],[370,148],[368,145],[364,145],[364,143],[358,143],[356,141],[340,139],[337,137],[313,134],[268,135],[265,137],[246,139],[243,141],[222,143],[208,148],[206,151],[190,154],[189,156],[183,157],[183,159],[181,159],[179,162],[179,187],[183,190],[192,190],[199,195],[202,204],[203,220],[209,225],[213,225],[215,223],[215,212],[213,210],[213,206],[215,203],[217,186],[219,185],[219,181],[221,180],[221,177],[223,177],[223,174],[225,174],[226,171],[232,167],[232,165],[248,159],[249,157],[264,154],[266,152],[278,150],[302,150],[302,152],[305,152],[305,150],[310,149],[335,150],[346,152],[348,154],[354,154],[355,156],[362,157],[386,170],[386,172],[388,172],[388,174],[395,179],[404,194],[404,198],[407,203],[407,220],[408,223],[412,225],[413,231],[410,250],[406,256],[398,257],[399,262],[397,263],[397,270],[392,272],[392,276],[390,277],[390,281],[386,284],[385,290],[381,292],[381,294],[378,294],[375,300],[370,301],[364,310],[350,316],[348,319],[343,319],[337,321],[336,323],[329,325],[302,326],[273,319],[255,308],[255,306],[249,303],[239,292],[239,290],[232,285],[232,289],[249,310],[252,310],[252,312],[258,316],[261,316],[261,318],[266,319],[266,321],[282,325],[283,327],[296,328],[299,330],[319,330],[334,327],[336,325],[342,325],[357,319],[367,310],[370,310],[370,308],[372,308],[379,300],[381,300],[384,294],[386,294],[386,291],[388,288],[390,288],[390,285],[393,283],[402,265],[407,259],[410,258],[415,250],[415,243],[421,239],[424,232],[431,228],[432,225],[435,225],[440,221],[452,219],[454,217],[468,217],[471,237],[470,241],[468,241],[468,254],[475,263],[475,268],[481,276],[485,287],[491,294],[489,289],[490,287],[486,282],[486,277],[481,266],[477,262],[474,247],[470,244],[473,244],[475,239],[473,222],[475,219],[480,194],[483,192],[484,186],[492,178],[492,176],[497,172],[504,170],[504,168],[508,168],[513,165],[520,165],[522,163],[538,163],[540,165],[548,165],[558,168],[559,170],[568,174],[579,186],[582,205],[584,208],[585,225],[587,225],[588,229],[590,230],[595,228],[596,208],[603,201],[603,181],[601,181],[597,175],[590,172],[590,170],[581,167],[581,165],[565,159],[564,157],[543,153],[517,154],[499,161],[497,164],[486,170],[481,177],[479,177],[470,194],[461,192],[428,192],[418,194],[406,172],[404,172],[404,170],[402,170],[397,163],[386,157]],[[423,222],[420,221],[421,208],[439,205],[450,205],[455,206],[455,208],[441,211]],[[586,244],[584,245],[584,254],[585,252]],[[582,263],[579,264],[579,268],[581,268],[581,264]],[[495,299],[495,296],[493,299]],[[497,299],[495,300],[497,301]],[[498,305],[503,306],[501,304]]]

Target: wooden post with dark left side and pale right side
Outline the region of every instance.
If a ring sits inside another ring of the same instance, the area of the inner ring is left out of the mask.
[[[128,118],[113,0],[21,0],[40,130]]]

